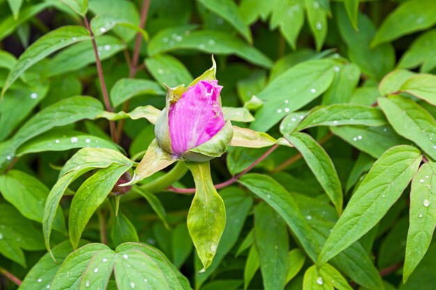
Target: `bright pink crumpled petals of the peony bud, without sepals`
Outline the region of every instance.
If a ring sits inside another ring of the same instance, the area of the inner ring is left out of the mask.
[[[215,136],[225,121],[218,81],[198,81],[170,105],[169,133],[173,154],[180,155]]]

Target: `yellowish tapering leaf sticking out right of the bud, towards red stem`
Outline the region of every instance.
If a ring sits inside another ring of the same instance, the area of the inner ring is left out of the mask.
[[[233,126],[233,138],[230,142],[231,146],[262,148],[270,147],[274,144],[290,146],[288,141],[283,138],[275,139],[263,132],[256,132],[248,128]]]

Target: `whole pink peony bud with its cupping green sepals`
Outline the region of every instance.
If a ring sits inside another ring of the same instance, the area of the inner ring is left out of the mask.
[[[221,156],[233,136],[221,109],[221,88],[217,80],[198,80],[187,90],[167,88],[166,108],[155,127],[159,146],[189,161]]]

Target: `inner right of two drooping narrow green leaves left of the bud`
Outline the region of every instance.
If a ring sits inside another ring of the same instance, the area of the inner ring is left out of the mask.
[[[130,166],[132,166],[132,163],[114,164],[101,169],[95,175],[86,179],[77,189],[74,198],[72,198],[70,218],[68,220],[72,248],[77,248],[81,233],[91,216],[93,216],[94,211],[104,202],[118,179]]]

